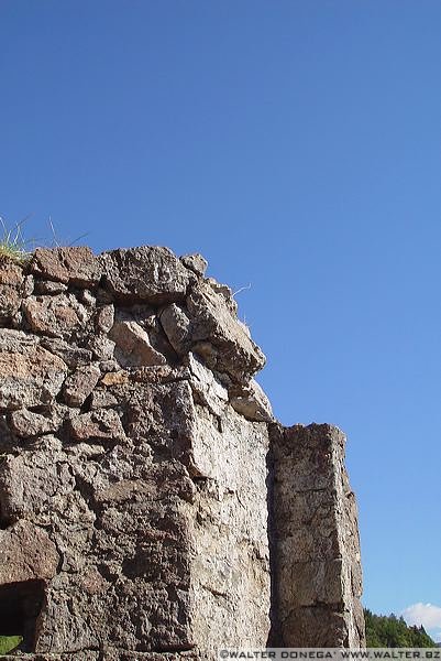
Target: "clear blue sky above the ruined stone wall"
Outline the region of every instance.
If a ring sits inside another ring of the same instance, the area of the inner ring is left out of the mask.
[[[0,214],[251,283],[275,413],[349,435],[377,613],[441,607],[440,65],[439,0],[0,0]]]

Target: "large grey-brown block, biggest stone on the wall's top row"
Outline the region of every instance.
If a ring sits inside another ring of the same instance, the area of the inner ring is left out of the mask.
[[[181,301],[195,278],[172,250],[157,246],[113,250],[100,260],[106,288],[123,302]]]

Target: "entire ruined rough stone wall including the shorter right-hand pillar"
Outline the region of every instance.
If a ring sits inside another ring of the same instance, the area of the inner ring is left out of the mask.
[[[363,642],[343,437],[274,422],[206,266],[152,247],[0,263],[0,635],[23,655]]]

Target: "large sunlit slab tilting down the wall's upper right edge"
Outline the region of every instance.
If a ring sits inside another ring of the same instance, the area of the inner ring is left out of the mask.
[[[234,318],[223,295],[213,292],[209,284],[199,283],[188,296],[187,307],[194,342],[207,342],[216,349],[214,369],[225,371],[239,382],[247,382],[250,376],[263,368],[265,356]]]

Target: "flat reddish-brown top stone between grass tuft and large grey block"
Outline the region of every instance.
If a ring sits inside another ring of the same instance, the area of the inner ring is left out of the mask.
[[[78,286],[93,286],[101,278],[99,259],[85,246],[38,248],[31,271],[46,280]]]

